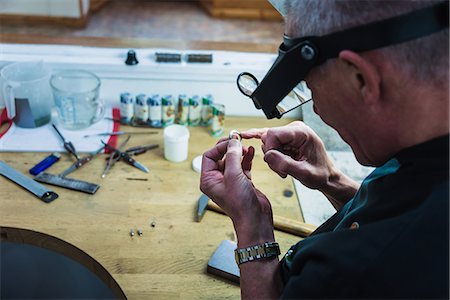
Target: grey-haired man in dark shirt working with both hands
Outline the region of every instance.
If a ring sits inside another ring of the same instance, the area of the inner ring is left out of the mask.
[[[355,183],[300,121],[243,132],[261,140],[273,171],[338,210],[279,262],[270,202],[251,181],[254,149],[230,139],[207,151],[200,187],[233,221],[242,297],[448,298],[448,2],[299,0],[283,9],[285,42],[252,99],[280,117],[281,99],[305,80],[314,111],[376,169]]]

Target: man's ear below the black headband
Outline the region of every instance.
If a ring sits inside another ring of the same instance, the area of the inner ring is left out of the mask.
[[[353,51],[344,50],[339,53],[339,59],[351,66],[355,76],[355,86],[362,98],[368,104],[375,103],[380,97],[381,77],[378,69],[367,59]]]

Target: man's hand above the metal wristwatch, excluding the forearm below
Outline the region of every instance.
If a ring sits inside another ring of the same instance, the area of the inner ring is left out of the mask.
[[[239,247],[274,240],[272,207],[251,181],[254,153],[232,139],[203,154],[200,189],[232,219]]]

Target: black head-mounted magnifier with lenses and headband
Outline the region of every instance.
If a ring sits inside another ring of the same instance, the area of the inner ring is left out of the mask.
[[[281,118],[311,100],[303,81],[309,71],[343,50],[363,52],[407,42],[448,28],[449,2],[353,27],[324,36],[284,36],[279,54],[261,83],[248,72],[238,75],[239,90],[250,97],[268,119]],[[290,92],[293,97],[286,97]]]

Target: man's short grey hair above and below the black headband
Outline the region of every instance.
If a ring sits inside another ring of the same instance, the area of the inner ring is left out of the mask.
[[[431,0],[291,0],[286,1],[287,33],[294,37],[324,35],[387,19],[436,4]],[[417,80],[448,83],[449,31],[380,50],[398,70]]]

